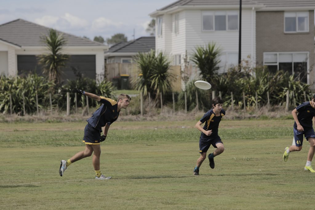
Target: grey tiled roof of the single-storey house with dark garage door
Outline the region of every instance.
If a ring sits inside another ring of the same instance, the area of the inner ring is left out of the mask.
[[[26,20],[17,19],[0,25],[0,39],[18,46],[45,46],[41,37],[47,36],[49,29]],[[66,39],[65,46],[105,46],[86,38],[63,32],[59,33],[62,33]]]

